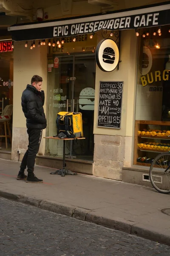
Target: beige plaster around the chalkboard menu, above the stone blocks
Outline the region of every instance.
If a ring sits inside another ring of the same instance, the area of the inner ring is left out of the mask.
[[[134,92],[136,84],[137,37],[134,30],[121,32],[120,64],[113,72],[103,72],[96,65],[94,134],[132,136]],[[97,127],[99,82],[124,81],[122,96],[121,129]]]

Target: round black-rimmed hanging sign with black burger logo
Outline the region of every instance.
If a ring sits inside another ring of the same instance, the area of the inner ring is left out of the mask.
[[[104,39],[96,48],[96,63],[105,72],[111,72],[119,63],[119,49],[112,39]]]

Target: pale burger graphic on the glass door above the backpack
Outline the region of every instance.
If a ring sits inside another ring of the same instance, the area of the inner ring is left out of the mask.
[[[82,110],[94,110],[94,95],[95,90],[87,87],[80,92],[79,108]]]

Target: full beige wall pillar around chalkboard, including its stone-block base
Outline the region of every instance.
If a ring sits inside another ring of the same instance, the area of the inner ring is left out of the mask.
[[[94,175],[99,177],[122,180],[122,167],[132,164],[137,45],[133,30],[122,31],[119,70],[103,72],[96,66]],[[100,81],[124,82],[120,129],[97,127]]]

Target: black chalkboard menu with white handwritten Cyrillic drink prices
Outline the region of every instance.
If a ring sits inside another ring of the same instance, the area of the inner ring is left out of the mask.
[[[100,81],[99,127],[120,129],[123,82]]]

